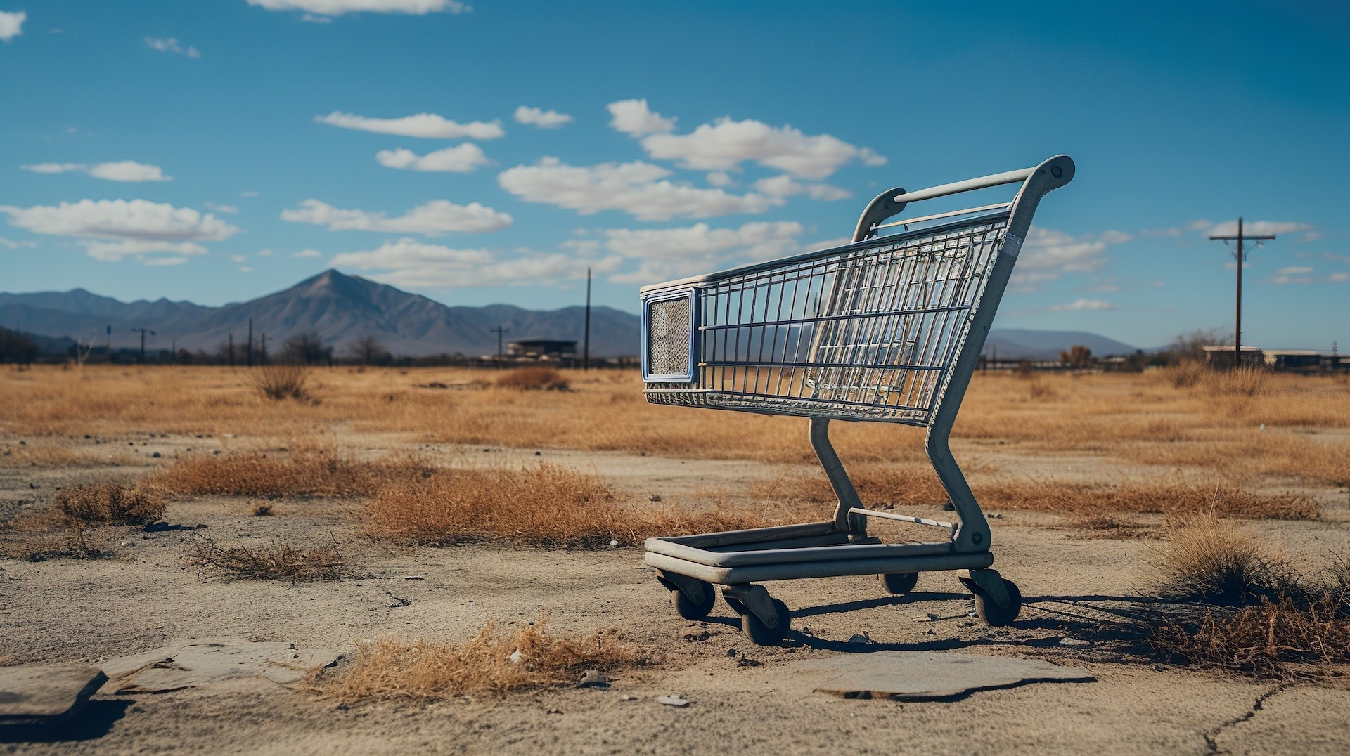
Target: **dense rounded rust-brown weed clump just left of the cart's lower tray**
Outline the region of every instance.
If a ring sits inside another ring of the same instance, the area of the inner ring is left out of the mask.
[[[381,489],[367,512],[373,536],[400,543],[595,547],[626,540],[624,513],[599,477],[548,463],[437,470]]]

